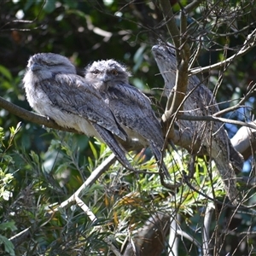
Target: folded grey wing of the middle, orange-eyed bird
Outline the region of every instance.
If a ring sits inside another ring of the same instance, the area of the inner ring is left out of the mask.
[[[160,122],[147,96],[130,84],[114,84],[106,93],[108,105],[120,124],[162,148],[164,139]]]

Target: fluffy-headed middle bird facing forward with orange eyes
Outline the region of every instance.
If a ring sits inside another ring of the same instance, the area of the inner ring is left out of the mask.
[[[160,122],[149,98],[129,84],[129,76],[126,67],[114,60],[94,61],[84,73],[86,81],[95,86],[128,137],[149,146],[160,163],[164,147]],[[170,177],[164,164],[162,168],[166,177]]]

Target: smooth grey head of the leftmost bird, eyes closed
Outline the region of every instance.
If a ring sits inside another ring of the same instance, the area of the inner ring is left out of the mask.
[[[27,73],[38,80],[50,79],[57,73],[76,73],[76,69],[66,57],[54,53],[32,55],[27,64]]]

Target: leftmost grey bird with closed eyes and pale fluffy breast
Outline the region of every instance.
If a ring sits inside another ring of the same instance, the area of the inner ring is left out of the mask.
[[[125,149],[114,136],[126,140],[125,131],[100,93],[76,74],[73,64],[53,53],[33,55],[23,79],[26,98],[38,113],[108,144],[119,162],[132,169]]]

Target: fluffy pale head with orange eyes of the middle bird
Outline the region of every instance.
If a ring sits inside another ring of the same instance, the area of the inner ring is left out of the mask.
[[[91,65],[85,68],[84,77],[97,89],[111,86],[112,83],[128,83],[131,74],[126,67],[114,60],[94,61]]]

